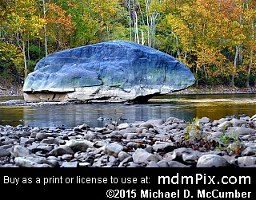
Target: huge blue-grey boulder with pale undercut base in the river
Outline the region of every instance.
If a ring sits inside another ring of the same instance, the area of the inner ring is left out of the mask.
[[[145,102],[194,84],[190,69],[169,54],[130,41],[106,41],[52,53],[23,86],[26,102]]]

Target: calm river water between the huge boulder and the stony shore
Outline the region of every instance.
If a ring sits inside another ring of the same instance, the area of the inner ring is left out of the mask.
[[[2,97],[0,101],[22,99]],[[256,94],[170,94],[150,99],[147,104],[67,104],[40,107],[0,105],[0,125],[35,127],[75,127],[87,124],[102,127],[111,120],[122,122],[166,120],[170,116],[191,121],[207,116],[219,120],[226,116],[256,114]],[[98,120],[98,118],[105,118]]]

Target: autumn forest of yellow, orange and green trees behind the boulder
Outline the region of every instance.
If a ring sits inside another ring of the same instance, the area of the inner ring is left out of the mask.
[[[50,53],[127,40],[185,63],[196,86],[256,87],[254,0],[0,0],[0,88]]]

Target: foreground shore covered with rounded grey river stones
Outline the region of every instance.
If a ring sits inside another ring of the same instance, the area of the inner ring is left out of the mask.
[[[0,167],[256,167],[256,115],[0,126]]]

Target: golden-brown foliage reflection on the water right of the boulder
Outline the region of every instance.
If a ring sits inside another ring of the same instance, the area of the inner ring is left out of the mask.
[[[207,116],[218,120],[225,116],[256,114],[256,94],[195,94],[169,95],[154,98],[156,101],[183,104],[182,109],[193,109],[194,116]]]

